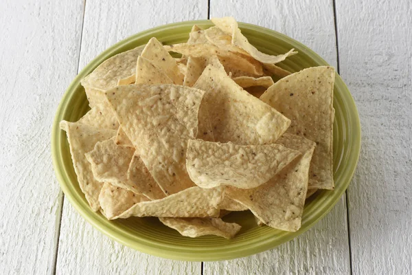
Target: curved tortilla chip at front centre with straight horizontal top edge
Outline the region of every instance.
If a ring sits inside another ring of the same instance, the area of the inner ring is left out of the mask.
[[[300,153],[280,144],[237,145],[189,140],[186,168],[202,188],[235,186],[249,189],[273,178]]]

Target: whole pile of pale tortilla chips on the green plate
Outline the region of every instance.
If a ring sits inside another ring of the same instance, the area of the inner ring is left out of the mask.
[[[277,63],[293,49],[264,54],[233,18],[211,21],[187,43],[152,38],[82,80],[91,110],[60,123],[80,188],[107,219],[159,217],[183,236],[230,239],[240,225],[222,217],[244,210],[299,230],[306,197],[334,188],[334,69],[291,74]]]

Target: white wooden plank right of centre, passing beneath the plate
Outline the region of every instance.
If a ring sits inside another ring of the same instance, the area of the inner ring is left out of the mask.
[[[211,17],[277,30],[336,63],[332,1],[211,1]],[[317,225],[297,239],[254,256],[204,264],[204,274],[350,274],[345,196]]]

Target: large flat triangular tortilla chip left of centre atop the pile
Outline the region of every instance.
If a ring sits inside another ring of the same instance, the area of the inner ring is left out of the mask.
[[[175,85],[128,85],[107,91],[117,120],[165,194],[194,186],[187,175],[187,141],[198,133],[205,92]]]

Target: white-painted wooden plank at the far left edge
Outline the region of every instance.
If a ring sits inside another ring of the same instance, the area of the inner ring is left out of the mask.
[[[76,76],[81,24],[81,0],[1,2],[1,274],[49,274],[54,268],[62,206],[50,129]]]

